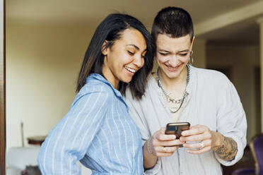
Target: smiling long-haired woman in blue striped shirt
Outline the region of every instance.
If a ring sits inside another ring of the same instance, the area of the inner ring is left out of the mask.
[[[141,135],[122,98],[127,84],[144,95],[153,67],[153,42],[134,17],[111,14],[95,30],[78,76],[78,95],[68,114],[42,144],[42,174],[143,174]]]

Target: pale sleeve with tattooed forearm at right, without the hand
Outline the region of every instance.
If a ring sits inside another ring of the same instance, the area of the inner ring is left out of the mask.
[[[215,155],[218,162],[230,166],[242,158],[247,145],[247,120],[234,85],[226,80],[222,90],[218,98],[217,132],[223,135],[224,144],[215,148]]]

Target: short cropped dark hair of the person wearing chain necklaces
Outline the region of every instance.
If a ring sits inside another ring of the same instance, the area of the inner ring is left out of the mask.
[[[151,35],[155,42],[158,34],[170,35],[170,37],[184,37],[189,34],[192,41],[194,26],[191,16],[182,8],[173,6],[163,8],[154,18],[151,28]]]

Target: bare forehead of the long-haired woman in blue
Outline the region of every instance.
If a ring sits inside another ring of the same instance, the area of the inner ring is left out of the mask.
[[[119,40],[116,41],[116,44],[117,43],[124,45],[134,44],[142,51],[146,49],[146,41],[144,39],[144,35],[142,35],[139,30],[133,28],[124,30]]]

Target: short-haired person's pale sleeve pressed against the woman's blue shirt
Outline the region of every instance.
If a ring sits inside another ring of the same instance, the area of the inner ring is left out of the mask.
[[[142,145],[144,145],[146,140],[148,140],[151,137],[151,133],[149,131],[148,124],[141,107],[141,102],[139,102],[137,99],[133,99],[129,89],[126,92],[124,99],[129,107],[129,114],[131,118],[134,120],[134,122],[136,123],[136,125],[138,126],[141,132],[141,141],[142,141]],[[160,169],[161,169],[161,161],[160,158],[158,158],[154,167],[152,167],[151,169],[144,169],[144,175],[158,174]]]

